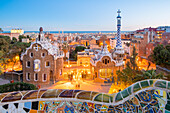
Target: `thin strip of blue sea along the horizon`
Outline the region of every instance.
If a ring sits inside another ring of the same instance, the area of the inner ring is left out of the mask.
[[[2,33],[10,33],[11,31],[3,31]],[[49,33],[59,33],[59,31],[44,31]],[[117,31],[60,31],[60,33],[116,33]],[[131,31],[121,31],[127,33]],[[24,31],[24,33],[39,33],[39,31]]]

